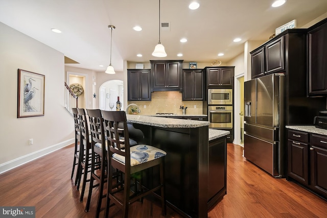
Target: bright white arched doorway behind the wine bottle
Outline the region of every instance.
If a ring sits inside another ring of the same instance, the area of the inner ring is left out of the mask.
[[[124,109],[124,82],[122,80],[109,80],[104,82],[99,88],[99,108],[101,110],[115,110],[115,103],[119,96],[121,108]],[[110,109],[109,103],[114,103],[114,108]]]

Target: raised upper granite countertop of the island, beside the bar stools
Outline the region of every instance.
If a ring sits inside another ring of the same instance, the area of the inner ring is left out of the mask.
[[[126,114],[127,122],[162,128],[197,128],[209,126],[209,122],[190,119]]]

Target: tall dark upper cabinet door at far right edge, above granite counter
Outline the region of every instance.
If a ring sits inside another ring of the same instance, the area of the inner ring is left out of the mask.
[[[308,32],[309,95],[327,94],[327,18]]]

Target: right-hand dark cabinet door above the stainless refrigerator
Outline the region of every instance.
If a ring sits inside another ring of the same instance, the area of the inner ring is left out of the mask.
[[[284,71],[284,54],[284,37],[278,38],[265,46],[265,74]]]

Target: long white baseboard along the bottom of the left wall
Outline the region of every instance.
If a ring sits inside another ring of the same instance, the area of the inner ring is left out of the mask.
[[[17,166],[28,163],[28,162],[35,160],[37,158],[40,158],[44,155],[50,154],[54,151],[57,151],[58,149],[69,146],[69,144],[72,144],[74,142],[75,142],[75,138],[72,138],[72,139],[69,139],[66,141],[62,141],[58,144],[54,144],[53,146],[47,147],[45,149],[42,149],[42,150],[33,152],[31,154],[8,161],[6,163],[0,164],[0,174],[10,171],[10,169],[16,168]]]

